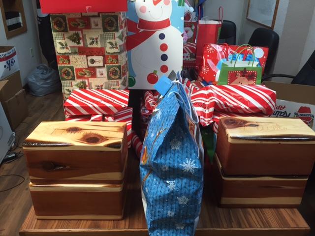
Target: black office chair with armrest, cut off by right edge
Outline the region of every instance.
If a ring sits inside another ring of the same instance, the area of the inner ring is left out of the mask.
[[[262,80],[269,80],[270,78],[274,77],[291,78],[293,79],[291,84],[315,86],[315,51],[296,76],[285,74],[272,74],[264,76]]]

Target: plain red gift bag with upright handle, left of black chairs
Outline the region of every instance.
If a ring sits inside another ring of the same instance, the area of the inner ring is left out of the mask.
[[[200,15],[200,14],[199,14]],[[220,36],[220,31],[223,22],[223,8],[219,8],[219,21],[209,20],[208,17],[204,17],[198,22],[197,33],[197,65],[201,63],[203,55],[203,47],[205,44],[217,43]]]

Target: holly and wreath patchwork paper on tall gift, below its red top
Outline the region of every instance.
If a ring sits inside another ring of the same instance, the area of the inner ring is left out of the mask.
[[[126,13],[51,14],[63,98],[73,89],[127,89]]]

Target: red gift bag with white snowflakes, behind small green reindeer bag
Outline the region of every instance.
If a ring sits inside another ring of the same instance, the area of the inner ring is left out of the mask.
[[[246,47],[227,44],[206,44],[198,77],[208,84],[216,84],[219,81],[222,63],[231,59],[236,60],[237,55],[235,55],[235,52],[240,52]],[[258,65],[262,67],[263,74],[269,49],[268,47],[253,47],[253,51],[255,53],[254,61],[259,62]],[[239,60],[252,61],[250,48],[240,55]]]

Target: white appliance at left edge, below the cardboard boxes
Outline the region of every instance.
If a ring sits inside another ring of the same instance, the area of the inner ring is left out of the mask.
[[[14,142],[14,134],[0,103],[0,163]]]

